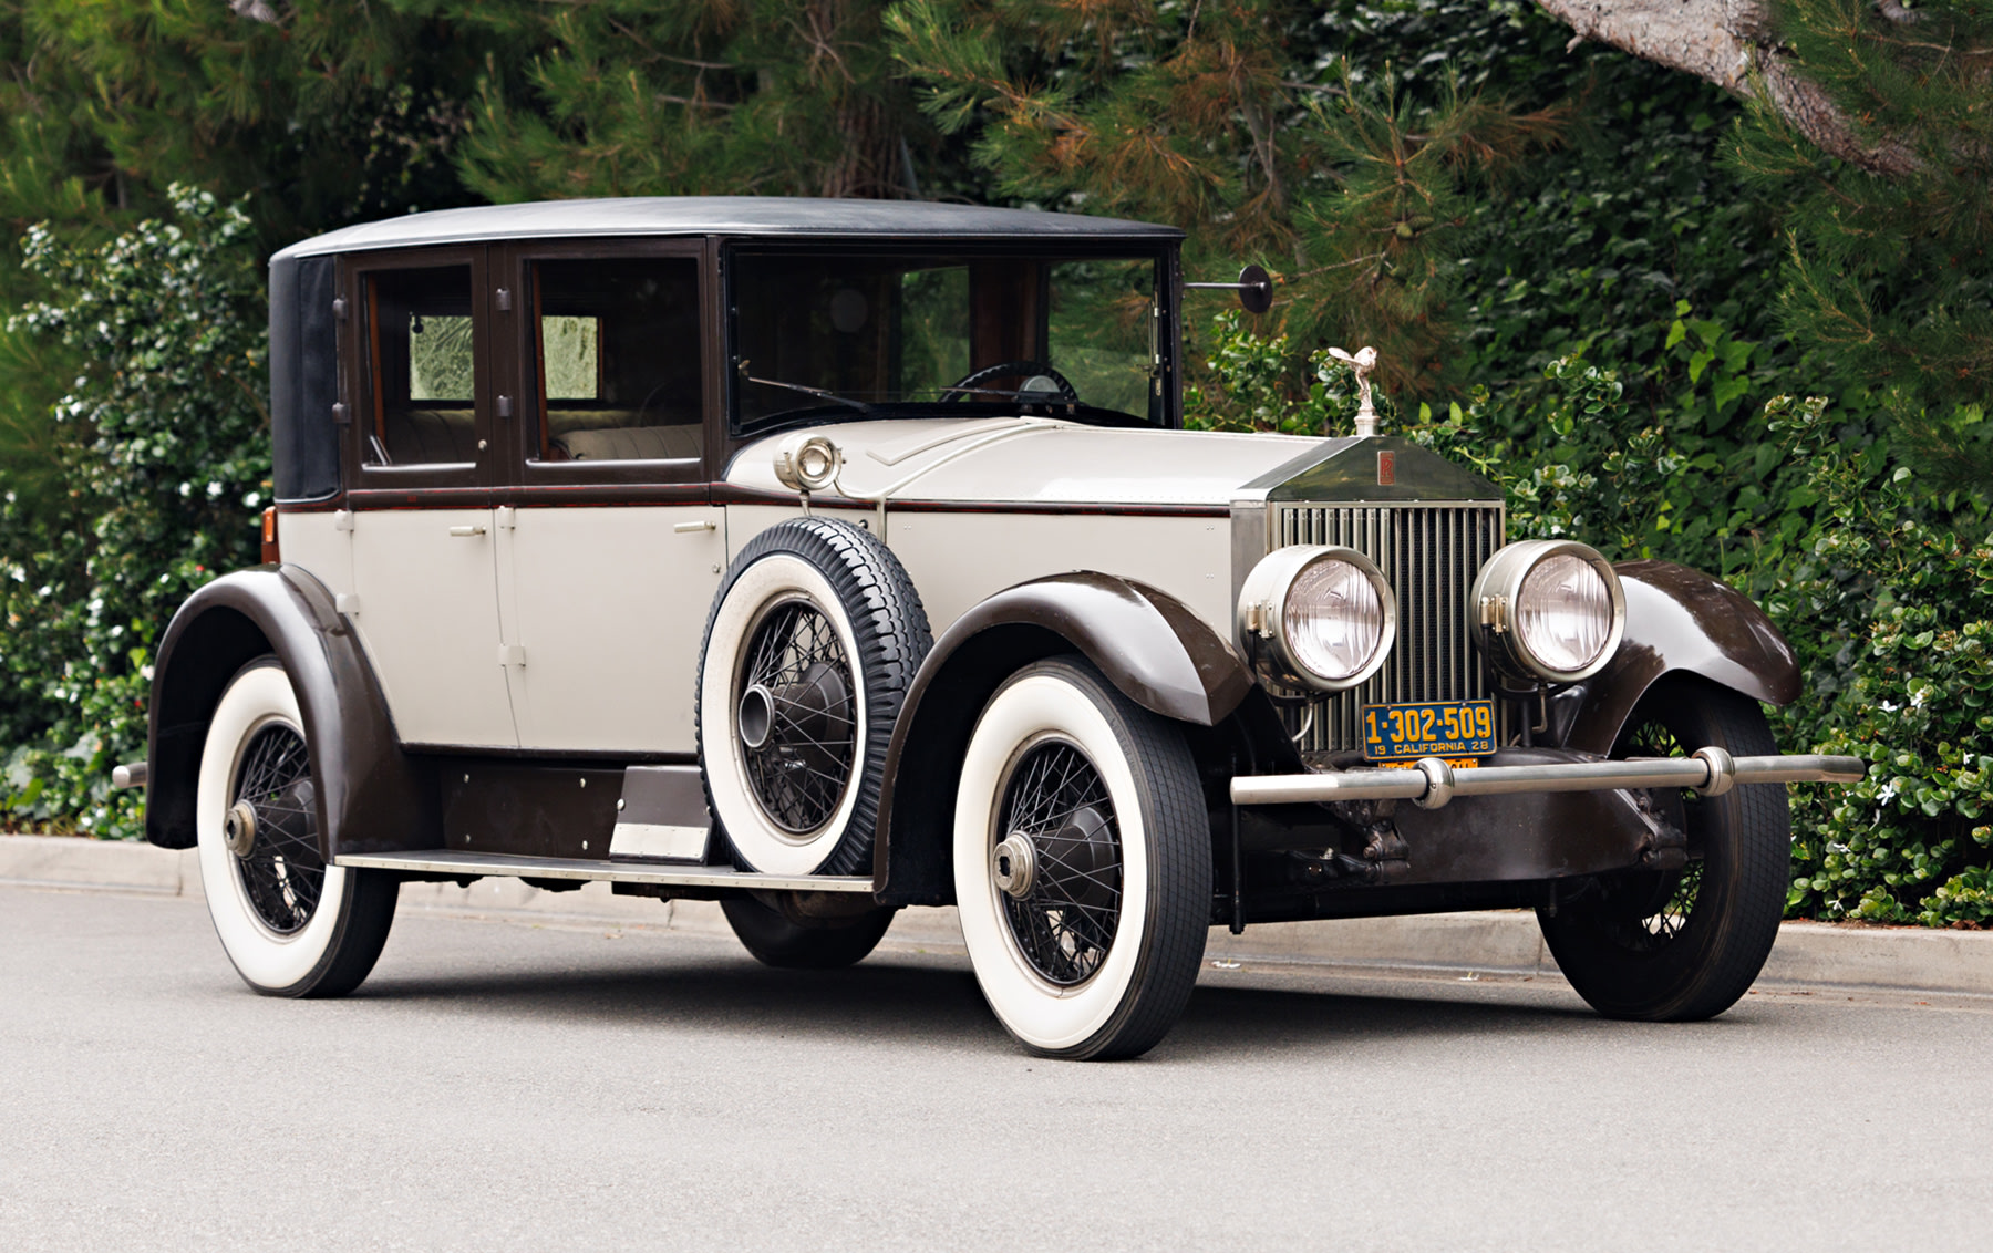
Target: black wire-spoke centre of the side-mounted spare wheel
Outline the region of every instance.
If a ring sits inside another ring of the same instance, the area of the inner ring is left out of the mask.
[[[851,659],[807,600],[771,606],[739,681],[741,759],[761,811],[783,831],[817,831],[837,813],[857,765]]]

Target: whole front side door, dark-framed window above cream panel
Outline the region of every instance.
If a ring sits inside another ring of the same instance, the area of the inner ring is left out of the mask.
[[[704,241],[520,245],[524,396],[498,510],[520,743],[694,749],[700,635],[725,562],[708,492]]]

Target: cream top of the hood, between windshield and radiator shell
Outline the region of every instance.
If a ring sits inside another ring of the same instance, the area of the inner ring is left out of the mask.
[[[1244,484],[1325,440],[1084,426],[1056,418],[907,418],[785,430],[747,444],[727,482],[787,492],[775,450],[821,434],[843,450],[825,494],[1006,504],[1228,506]]]

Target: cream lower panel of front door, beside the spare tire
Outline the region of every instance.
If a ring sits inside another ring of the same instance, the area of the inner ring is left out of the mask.
[[[498,510],[504,514],[506,510]],[[710,504],[520,508],[500,528],[520,743],[690,753],[706,614],[727,560]],[[712,530],[676,530],[712,522]]]

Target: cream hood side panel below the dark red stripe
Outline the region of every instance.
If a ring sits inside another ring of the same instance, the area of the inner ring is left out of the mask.
[[[819,518],[879,526],[877,512],[817,510]],[[795,506],[727,508],[727,560]],[[1048,574],[1092,570],[1148,584],[1232,637],[1232,522],[1142,514],[927,514],[887,508],[885,544],[921,594],[939,635],[977,604]]]

